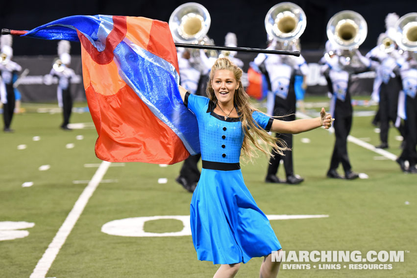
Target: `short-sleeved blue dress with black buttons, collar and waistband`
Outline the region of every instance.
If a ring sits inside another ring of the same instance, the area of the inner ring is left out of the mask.
[[[187,93],[184,104],[198,122],[202,170],[190,205],[193,243],[199,260],[214,264],[246,263],[281,245],[267,216],[245,186],[239,158],[244,139],[239,118],[224,120],[208,98]],[[272,119],[253,112],[269,130]]]

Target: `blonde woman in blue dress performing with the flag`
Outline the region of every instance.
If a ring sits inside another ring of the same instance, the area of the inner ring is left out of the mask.
[[[255,148],[269,154],[272,146],[282,152],[286,146],[267,131],[296,134],[329,128],[332,118],[324,108],[314,119],[270,118],[250,105],[241,77],[238,66],[219,58],[210,72],[208,98],[179,87],[184,105],[196,115],[201,147],[201,177],[190,206],[193,243],[199,260],[221,264],[215,278],[234,277],[240,263],[252,257],[264,257],[260,277],[276,277],[280,262],[272,261],[271,252],[281,252],[281,244],[245,186],[241,150],[249,159]]]

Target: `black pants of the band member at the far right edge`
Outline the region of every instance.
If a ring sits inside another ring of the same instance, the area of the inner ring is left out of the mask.
[[[417,96],[411,98],[407,96],[407,120],[405,120],[405,146],[400,158],[408,160],[410,167],[415,167],[417,163]]]

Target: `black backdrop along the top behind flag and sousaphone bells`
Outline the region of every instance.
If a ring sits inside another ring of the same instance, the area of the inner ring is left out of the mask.
[[[72,15],[123,15],[143,16],[169,21],[173,10],[187,1],[161,0],[72,0],[72,1],[2,1],[0,28],[30,30],[50,21]],[[224,44],[227,32],[234,32],[242,47],[264,48],[267,33],[264,20],[268,10],[279,1],[266,0],[212,0],[197,1],[204,5],[212,18],[208,36],[217,45]],[[368,23],[368,37],[362,50],[375,46],[378,35],[385,31],[385,16],[396,12],[400,17],[417,12],[417,1],[410,0],[294,0],[305,12],[307,27],[301,36],[303,50],[324,48],[326,25],[329,19],[342,10],[360,13]],[[28,38],[14,38],[15,56],[56,55],[56,42]],[[79,54],[78,43],[72,43],[71,54]]]

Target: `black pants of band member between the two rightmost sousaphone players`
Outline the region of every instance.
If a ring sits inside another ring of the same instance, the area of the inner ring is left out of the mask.
[[[381,129],[379,137],[382,143],[387,144],[390,122],[395,124],[397,119],[398,86],[391,86],[392,83],[393,81],[390,81],[388,84],[383,83],[379,92],[379,121]],[[404,137],[404,126],[402,124],[398,131]]]

